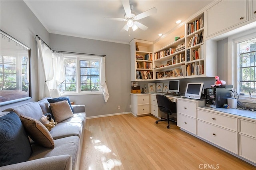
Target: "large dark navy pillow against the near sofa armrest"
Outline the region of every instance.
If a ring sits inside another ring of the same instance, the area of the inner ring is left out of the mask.
[[[16,113],[0,118],[1,166],[25,162],[32,152],[28,135]]]

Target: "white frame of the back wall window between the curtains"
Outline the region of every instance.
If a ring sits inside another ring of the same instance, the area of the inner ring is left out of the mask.
[[[76,91],[61,91],[61,96],[69,96],[69,95],[97,95],[103,94],[102,89],[100,91],[81,91],[81,73],[80,73],[80,61],[99,61],[99,75],[101,78],[102,74],[105,74],[105,70],[102,70],[101,66],[101,57],[98,56],[89,56],[89,55],[76,55],[76,54],[68,54],[63,53],[64,59],[76,59]]]

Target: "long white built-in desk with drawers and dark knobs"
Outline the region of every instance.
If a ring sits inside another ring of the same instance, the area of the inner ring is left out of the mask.
[[[156,95],[131,93],[132,114],[154,115],[160,119]],[[206,107],[205,100],[166,95],[177,103],[177,126],[250,164],[256,166],[256,112]]]

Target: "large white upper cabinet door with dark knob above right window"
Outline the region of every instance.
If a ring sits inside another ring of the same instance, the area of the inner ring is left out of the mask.
[[[222,0],[206,10],[206,36],[212,36],[248,21],[247,6],[247,0]]]

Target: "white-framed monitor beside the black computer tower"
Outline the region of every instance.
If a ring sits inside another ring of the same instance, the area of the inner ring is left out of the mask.
[[[201,99],[204,83],[188,83],[185,97],[190,99]]]

